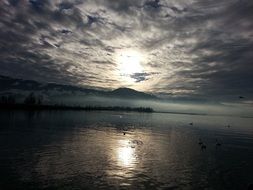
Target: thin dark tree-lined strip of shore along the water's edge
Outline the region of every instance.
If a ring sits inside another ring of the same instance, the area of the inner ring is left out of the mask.
[[[121,107],[121,106],[67,106],[67,105],[26,105],[26,104],[0,104],[0,110],[25,110],[25,111],[127,111],[153,113],[149,107]]]

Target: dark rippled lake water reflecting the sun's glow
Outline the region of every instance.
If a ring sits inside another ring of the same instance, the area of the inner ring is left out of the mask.
[[[252,124],[157,113],[0,112],[0,189],[247,189]]]

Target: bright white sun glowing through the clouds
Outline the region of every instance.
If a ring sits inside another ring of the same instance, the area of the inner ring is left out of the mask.
[[[125,50],[118,53],[116,58],[120,75],[130,76],[134,73],[141,73],[143,68],[141,62],[143,56],[134,50]]]

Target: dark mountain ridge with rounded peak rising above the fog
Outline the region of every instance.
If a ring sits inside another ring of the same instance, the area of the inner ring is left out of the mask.
[[[156,96],[139,92],[130,88],[119,88],[112,91],[87,89],[72,85],[63,85],[57,83],[40,83],[33,80],[14,79],[6,76],[0,76],[0,95],[15,94],[24,97],[28,93],[50,97],[57,96],[98,96],[107,98],[121,99],[157,99]]]

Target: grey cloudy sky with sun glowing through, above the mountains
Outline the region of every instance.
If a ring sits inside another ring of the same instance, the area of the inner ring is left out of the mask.
[[[252,0],[1,0],[0,74],[253,99]]]

